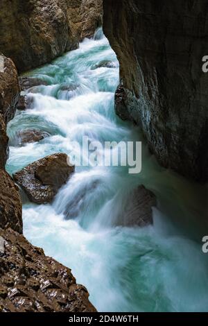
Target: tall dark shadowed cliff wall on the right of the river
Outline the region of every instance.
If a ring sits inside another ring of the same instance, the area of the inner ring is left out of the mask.
[[[141,126],[159,162],[208,180],[207,2],[103,0],[120,62],[116,112]]]

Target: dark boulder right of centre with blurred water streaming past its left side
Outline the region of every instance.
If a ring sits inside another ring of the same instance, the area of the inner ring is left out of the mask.
[[[118,216],[116,225],[144,227],[153,224],[152,207],[157,205],[155,194],[143,185],[133,190],[126,198],[125,209]]]

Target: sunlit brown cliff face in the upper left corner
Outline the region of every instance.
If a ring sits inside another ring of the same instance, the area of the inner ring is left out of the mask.
[[[101,24],[102,0],[1,0],[0,51],[19,71],[78,47]],[[83,28],[82,28],[83,26]]]

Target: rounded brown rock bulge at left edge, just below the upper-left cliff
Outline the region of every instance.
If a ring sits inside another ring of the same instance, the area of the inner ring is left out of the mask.
[[[0,55],[3,57],[4,67],[3,72],[0,71],[0,113],[7,124],[8,121],[15,117],[16,106],[19,100],[19,82],[17,69],[12,60],[6,58],[1,53]]]

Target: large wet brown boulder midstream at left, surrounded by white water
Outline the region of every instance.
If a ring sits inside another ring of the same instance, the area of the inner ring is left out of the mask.
[[[14,180],[33,203],[50,203],[74,171],[67,158],[62,153],[44,157],[15,173]]]

